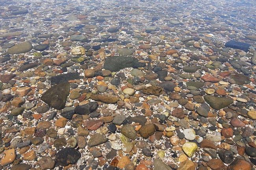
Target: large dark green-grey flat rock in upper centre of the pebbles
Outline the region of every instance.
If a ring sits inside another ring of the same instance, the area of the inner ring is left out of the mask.
[[[110,71],[119,71],[123,68],[134,67],[138,63],[138,59],[134,57],[108,57],[104,63],[104,69]]]

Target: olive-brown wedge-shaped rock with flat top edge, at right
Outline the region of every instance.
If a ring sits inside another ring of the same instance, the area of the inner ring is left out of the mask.
[[[227,97],[214,97],[211,95],[205,95],[204,100],[215,110],[221,110],[233,103],[233,100]]]

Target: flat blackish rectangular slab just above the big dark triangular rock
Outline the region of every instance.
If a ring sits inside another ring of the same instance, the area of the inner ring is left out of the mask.
[[[63,75],[56,75],[50,78],[51,84],[59,84],[59,83],[64,83],[68,82],[69,80],[76,80],[80,79],[79,73],[67,73]]]

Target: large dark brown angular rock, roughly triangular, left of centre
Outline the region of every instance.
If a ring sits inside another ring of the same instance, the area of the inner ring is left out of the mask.
[[[52,86],[42,96],[41,100],[46,102],[49,106],[61,110],[65,108],[67,97],[69,95],[70,84],[61,83]]]

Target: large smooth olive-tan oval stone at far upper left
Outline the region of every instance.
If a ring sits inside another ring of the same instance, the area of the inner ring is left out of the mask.
[[[21,54],[26,53],[28,51],[31,51],[33,49],[33,46],[30,42],[25,41],[19,44],[16,44],[15,46],[9,48],[7,50],[8,54]]]

